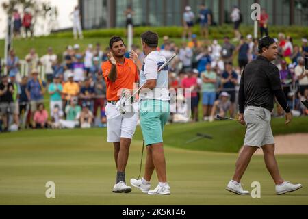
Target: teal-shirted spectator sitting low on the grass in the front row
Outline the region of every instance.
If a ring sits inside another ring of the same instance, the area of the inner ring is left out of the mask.
[[[79,125],[81,107],[77,105],[77,97],[70,99],[70,105],[66,105],[66,120],[60,119],[60,125],[64,128],[73,129]]]

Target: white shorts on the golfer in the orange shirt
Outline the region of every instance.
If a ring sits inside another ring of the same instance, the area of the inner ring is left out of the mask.
[[[107,142],[120,142],[120,138],[133,138],[138,121],[138,103],[133,103],[136,109],[130,118],[125,118],[116,110],[116,105],[107,103],[105,114],[107,117]]]

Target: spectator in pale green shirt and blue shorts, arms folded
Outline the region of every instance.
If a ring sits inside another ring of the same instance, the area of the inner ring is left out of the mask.
[[[202,83],[202,105],[203,105],[203,120],[209,120],[211,108],[216,99],[216,73],[211,70],[211,63],[207,63],[206,70],[201,73]]]

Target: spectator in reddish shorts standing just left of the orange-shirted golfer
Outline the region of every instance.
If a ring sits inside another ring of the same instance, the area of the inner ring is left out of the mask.
[[[106,83],[101,73],[97,74],[97,81],[94,83],[94,116],[97,116],[97,109],[105,110],[106,101]]]

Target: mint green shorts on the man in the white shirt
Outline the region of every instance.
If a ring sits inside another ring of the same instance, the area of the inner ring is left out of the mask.
[[[168,101],[154,99],[140,102],[140,125],[146,145],[163,142],[162,133],[170,114]]]

